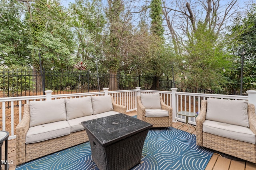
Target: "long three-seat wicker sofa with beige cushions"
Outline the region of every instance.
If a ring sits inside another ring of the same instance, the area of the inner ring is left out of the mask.
[[[16,127],[17,164],[89,141],[82,121],[126,113],[110,95],[32,101]]]

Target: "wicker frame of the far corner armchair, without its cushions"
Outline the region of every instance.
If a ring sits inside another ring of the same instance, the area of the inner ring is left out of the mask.
[[[141,95],[147,95],[147,94],[141,94]],[[164,111],[168,111],[167,116],[154,116],[149,117],[146,115],[147,108],[143,106],[141,96],[137,96],[137,118],[146,121],[148,123],[151,123],[153,127],[172,127],[172,107],[164,104],[162,100],[162,96],[158,95],[159,102],[160,102],[160,109]],[[153,110],[153,109],[151,109]],[[157,114],[157,113],[156,113]]]

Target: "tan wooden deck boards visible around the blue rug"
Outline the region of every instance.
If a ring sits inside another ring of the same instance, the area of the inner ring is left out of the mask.
[[[128,115],[136,115],[136,111],[129,112]],[[177,122],[173,123],[173,127],[177,128],[182,123]],[[189,131],[187,126],[182,127],[183,131]],[[196,135],[196,133],[194,132]],[[4,160],[4,144],[2,146],[2,160]],[[9,170],[15,170],[16,167],[16,139],[8,141],[8,160],[9,162],[13,161],[13,164],[10,164]],[[2,169],[4,169],[2,167]],[[256,164],[248,161],[236,161],[224,158],[216,153],[212,155],[210,162],[206,166],[205,170],[256,170]]]

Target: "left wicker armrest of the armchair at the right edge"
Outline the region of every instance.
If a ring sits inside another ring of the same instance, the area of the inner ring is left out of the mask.
[[[196,117],[196,145],[203,146],[203,123],[206,117],[207,100],[201,101],[200,113]]]

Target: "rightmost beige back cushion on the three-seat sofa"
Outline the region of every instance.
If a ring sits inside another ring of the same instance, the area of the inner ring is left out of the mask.
[[[113,111],[114,109],[111,96],[92,96],[92,108],[94,115],[106,111]]]

